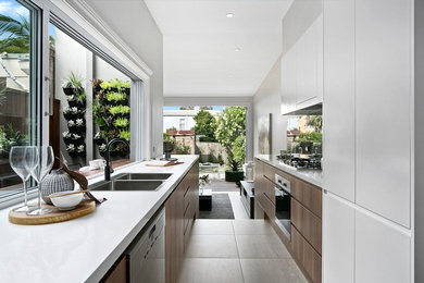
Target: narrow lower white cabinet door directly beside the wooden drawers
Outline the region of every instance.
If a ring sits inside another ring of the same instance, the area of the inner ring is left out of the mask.
[[[323,195],[323,282],[354,282],[354,209]]]

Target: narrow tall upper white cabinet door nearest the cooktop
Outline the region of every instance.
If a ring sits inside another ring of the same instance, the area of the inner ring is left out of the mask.
[[[323,13],[323,187],[354,202],[354,0],[325,0]]]

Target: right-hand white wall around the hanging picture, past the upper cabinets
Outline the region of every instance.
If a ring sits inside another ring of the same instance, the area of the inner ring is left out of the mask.
[[[271,153],[278,155],[279,150],[287,149],[287,116],[283,116],[279,113],[282,82],[280,61],[280,58],[278,58],[253,97],[254,155],[258,153],[259,118],[269,115],[270,113],[272,113]]]

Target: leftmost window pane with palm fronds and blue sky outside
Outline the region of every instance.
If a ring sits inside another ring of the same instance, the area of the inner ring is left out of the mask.
[[[0,1],[0,197],[22,188],[11,147],[39,143],[39,13],[25,1]]]

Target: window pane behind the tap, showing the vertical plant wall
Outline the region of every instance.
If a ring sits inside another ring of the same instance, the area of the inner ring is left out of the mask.
[[[53,24],[49,36],[50,77],[58,109],[51,118],[57,123],[50,131],[50,145],[71,169],[78,170],[103,158],[112,138],[129,142],[130,78]],[[129,149],[115,144],[111,158],[120,160],[115,164],[125,164]]]

